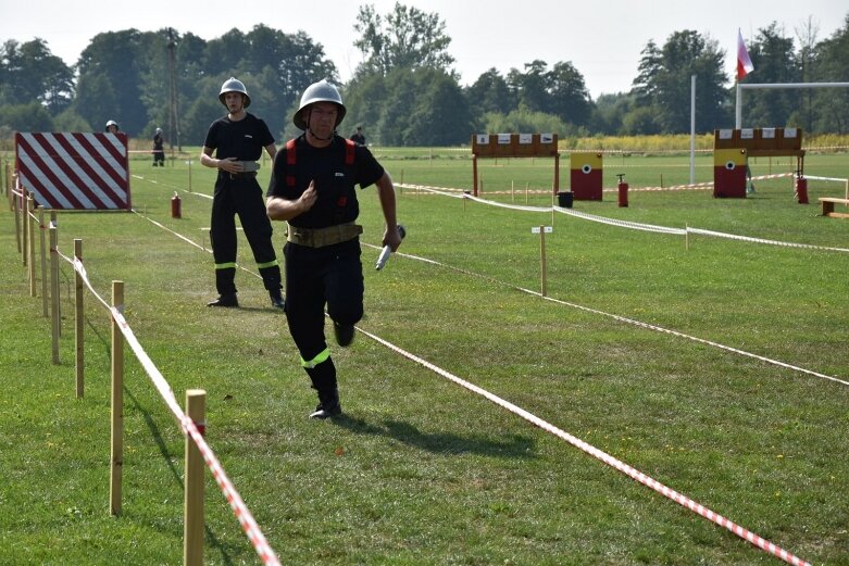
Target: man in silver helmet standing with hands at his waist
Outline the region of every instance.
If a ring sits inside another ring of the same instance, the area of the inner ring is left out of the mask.
[[[219,298],[210,306],[238,306],[236,299],[236,214],[253,259],[260,269],[271,302],[284,307],[280,294],[280,267],[272,244],[272,226],[262,202],[262,188],[257,183],[257,171],[262,149],[272,159],[277,154],[274,137],[261,118],[245,111],[250,97],[240,80],[230,77],[221,87],[219,100],[228,114],[210,126],[200,163],[219,169],[212,198],[210,240],[215,260],[215,288]],[[212,152],[215,150],[215,158]]]

